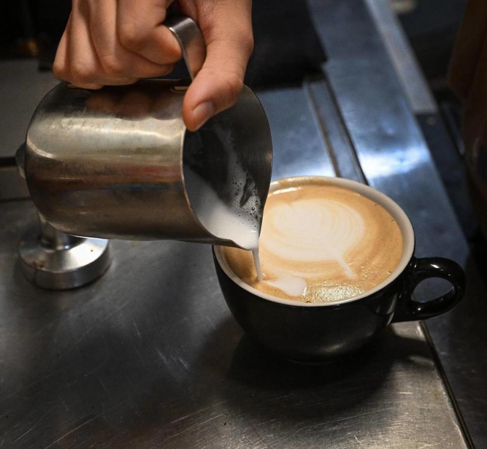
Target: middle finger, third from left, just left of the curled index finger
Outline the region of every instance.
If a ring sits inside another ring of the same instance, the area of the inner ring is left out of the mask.
[[[120,44],[116,0],[94,2],[89,24],[93,45],[107,78],[154,78],[172,71],[172,64],[156,64]]]

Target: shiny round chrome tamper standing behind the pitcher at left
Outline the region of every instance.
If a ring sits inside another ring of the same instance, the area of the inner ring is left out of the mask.
[[[24,147],[16,154],[25,178]],[[110,265],[109,241],[64,234],[39,214],[39,225],[20,240],[18,253],[25,277],[52,290],[81,287],[99,278]]]

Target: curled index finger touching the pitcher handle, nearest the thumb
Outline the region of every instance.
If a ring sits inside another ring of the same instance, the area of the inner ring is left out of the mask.
[[[119,0],[118,39],[127,50],[156,64],[173,64],[181,49],[172,32],[161,23],[166,18],[166,0]]]

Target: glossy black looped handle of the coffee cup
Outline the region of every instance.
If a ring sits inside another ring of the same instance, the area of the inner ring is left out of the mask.
[[[465,272],[456,262],[443,257],[413,258],[408,267],[406,285],[399,297],[399,304],[392,322],[415,321],[431,318],[455,307],[465,292]],[[421,281],[441,278],[451,283],[451,289],[434,300],[418,302],[412,299],[412,292]]]

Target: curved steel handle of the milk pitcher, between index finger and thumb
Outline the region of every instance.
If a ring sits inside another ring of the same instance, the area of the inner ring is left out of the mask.
[[[166,20],[165,25],[178,40],[189,76],[194,80],[206,58],[201,31],[189,17],[173,16]]]

